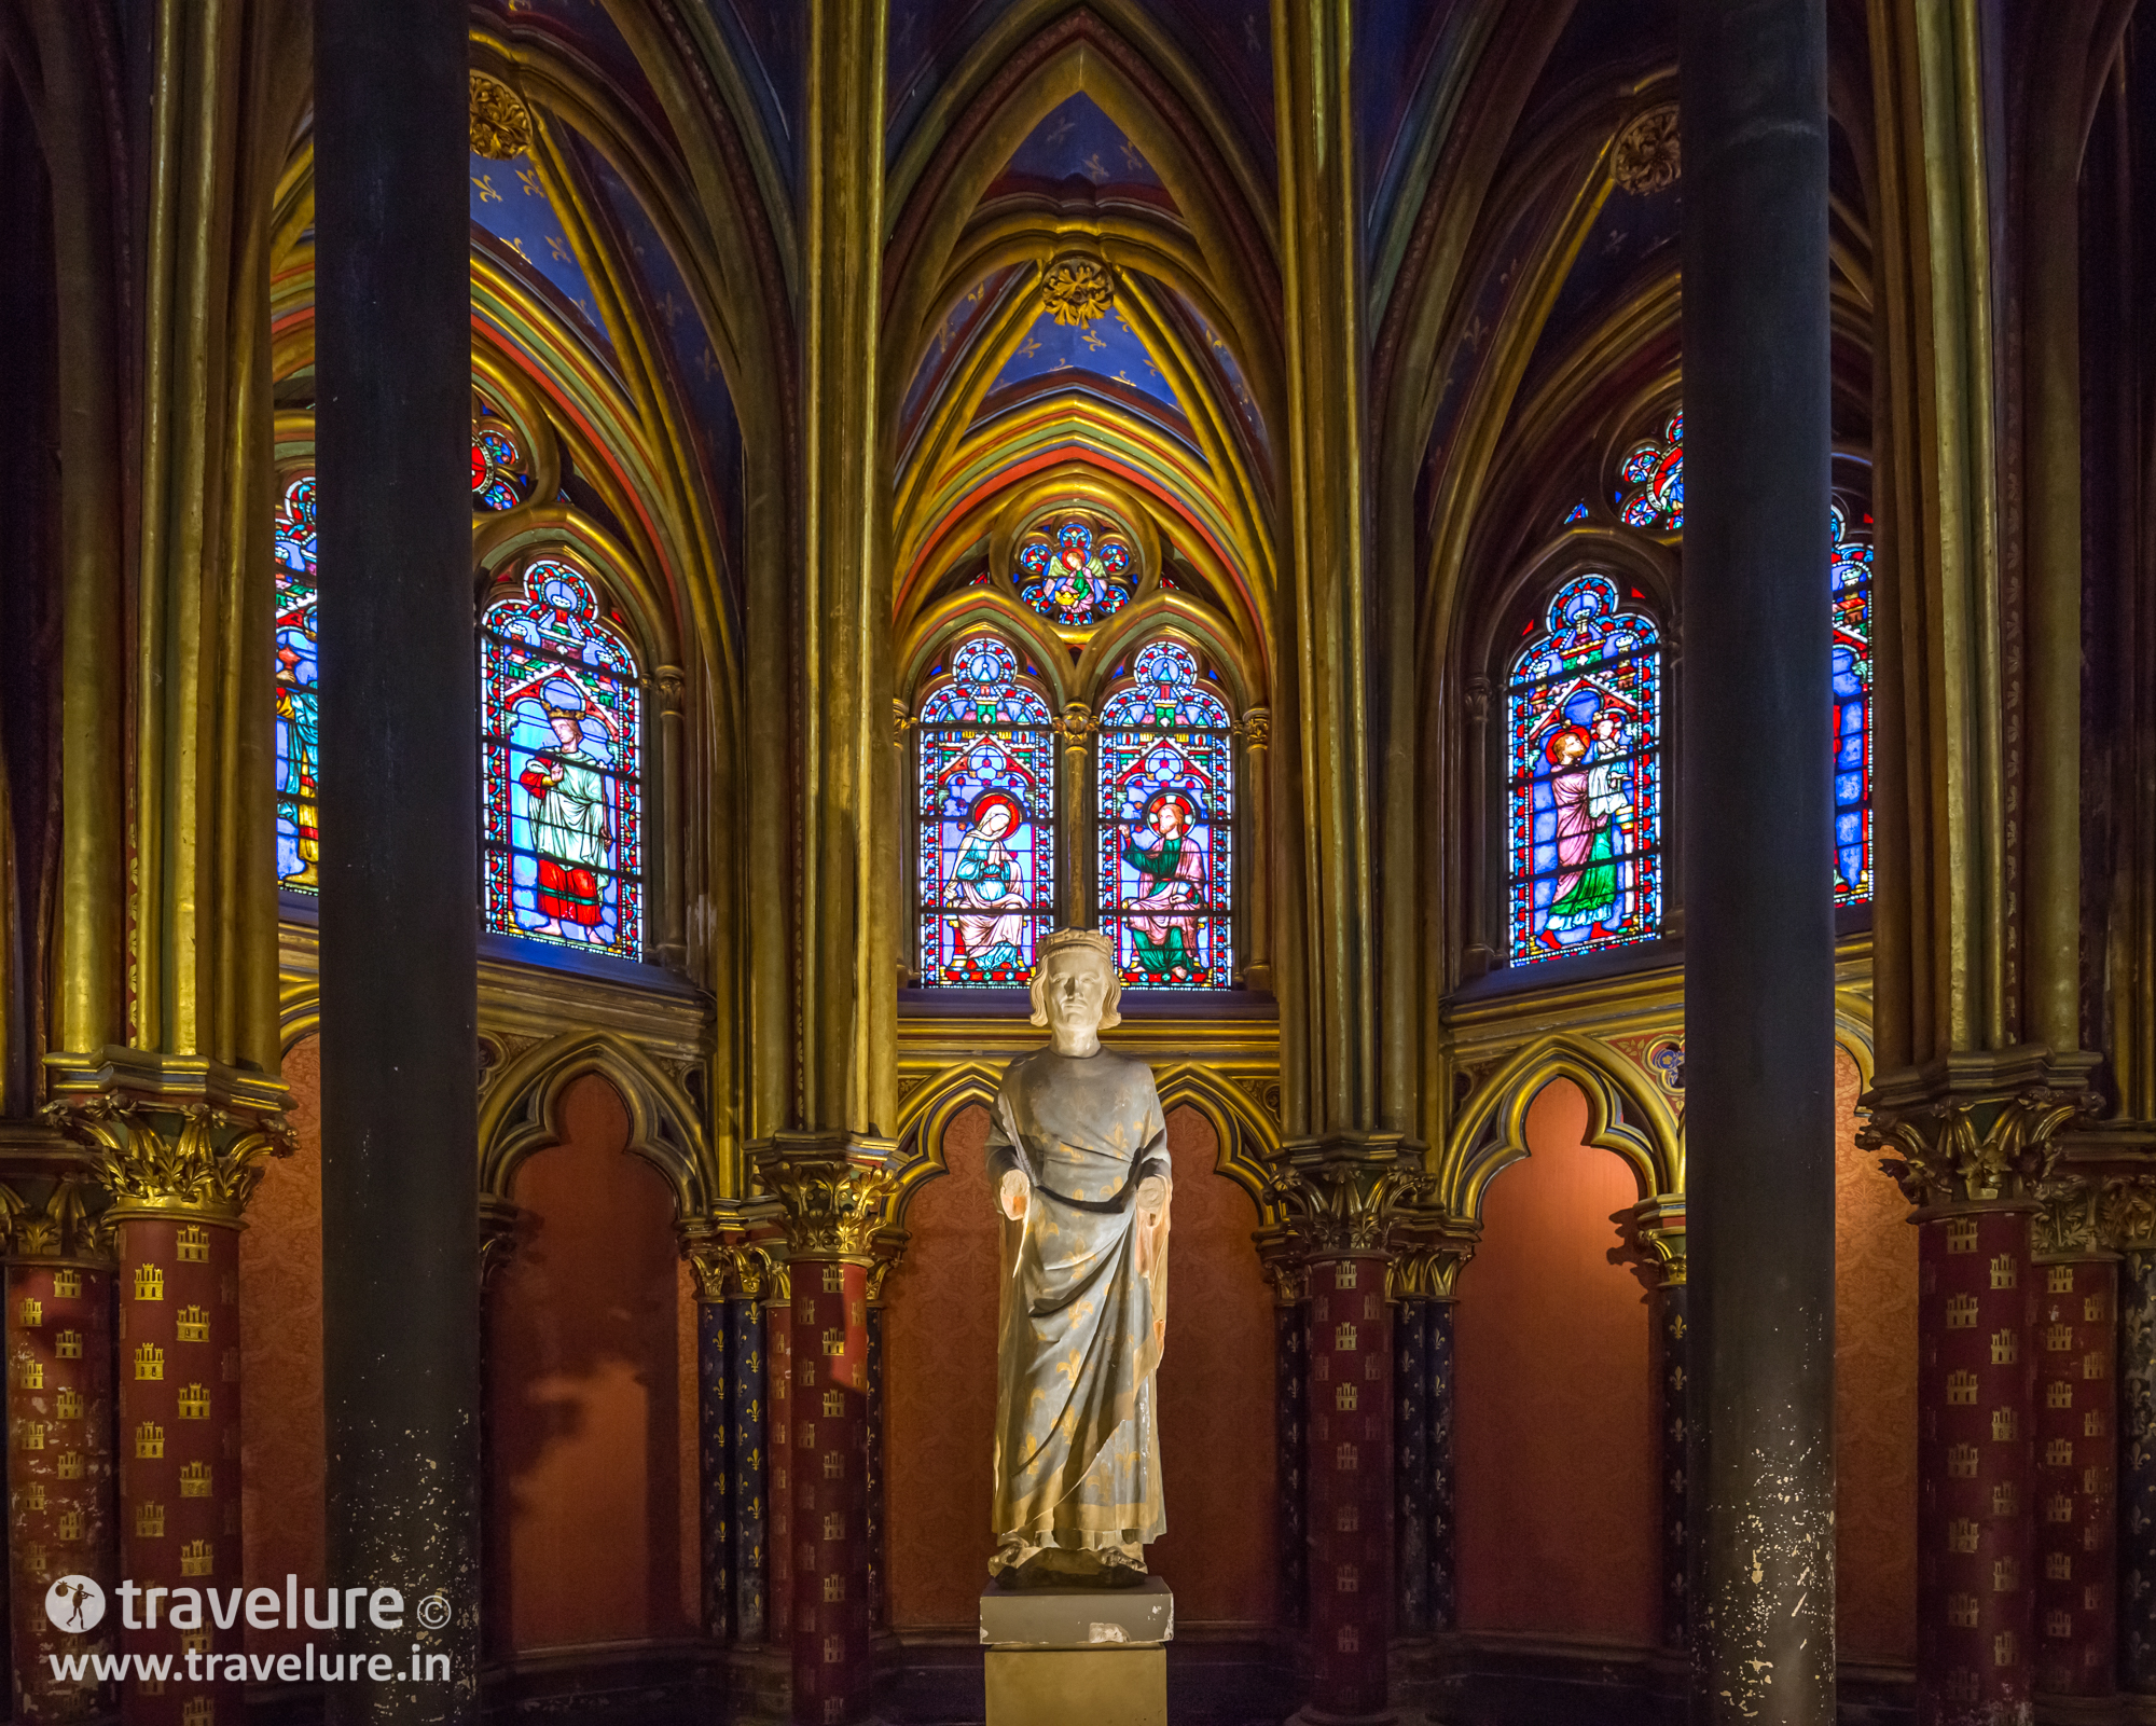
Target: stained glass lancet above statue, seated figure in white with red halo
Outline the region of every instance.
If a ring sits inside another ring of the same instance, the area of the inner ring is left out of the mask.
[[[921,982],[1024,984],[1056,893],[1048,701],[1005,641],[977,634],[929,686],[916,727]]]

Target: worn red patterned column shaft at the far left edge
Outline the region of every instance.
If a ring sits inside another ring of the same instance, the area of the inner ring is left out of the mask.
[[[24,1726],[110,1713],[114,1687],[60,1683],[56,1655],[114,1655],[121,1616],[112,1528],[112,1275],[86,1262],[6,1266],[9,1650]],[[45,1590],[86,1575],[103,1622],[73,1633]]]

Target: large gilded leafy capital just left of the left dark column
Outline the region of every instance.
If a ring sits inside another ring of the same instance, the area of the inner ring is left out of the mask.
[[[289,1156],[291,1094],[218,1061],[103,1049],[47,1055],[45,1120],[91,1152],[112,1191],[106,1223],[188,1217],[237,1228],[265,1156]]]

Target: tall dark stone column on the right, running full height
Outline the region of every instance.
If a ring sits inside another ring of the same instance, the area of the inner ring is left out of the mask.
[[[1826,4],[1684,0],[1680,65],[1692,1720],[1798,1726],[1835,1717]]]

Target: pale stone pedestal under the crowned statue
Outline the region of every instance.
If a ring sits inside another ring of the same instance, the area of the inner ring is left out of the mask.
[[[987,1726],[1166,1726],[1175,1594],[1138,1588],[981,1590]]]

